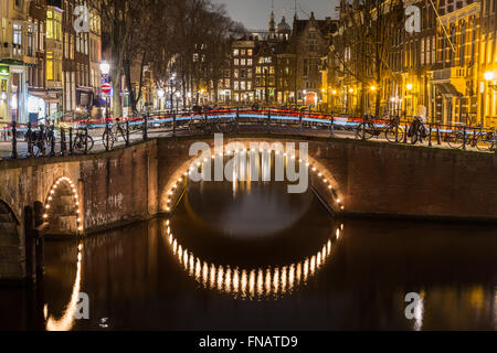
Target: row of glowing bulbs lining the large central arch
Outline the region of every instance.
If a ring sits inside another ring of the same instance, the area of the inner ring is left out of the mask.
[[[262,149],[262,148],[258,149],[258,152],[261,152],[261,153],[262,153],[262,152],[273,152],[273,151],[275,152],[276,156],[283,154],[283,157],[288,158],[288,153],[285,153],[285,152],[278,151],[278,150],[268,150],[268,149]],[[237,153],[255,153],[255,152],[257,152],[257,149],[255,149],[255,148],[252,148],[252,149],[250,149],[250,150],[248,150],[248,149],[230,150],[230,151],[226,151],[226,152],[224,152],[224,153],[220,152],[219,154],[212,154],[211,159],[214,160],[216,157],[220,157],[220,158],[221,158],[221,157],[236,156]],[[290,158],[292,160],[296,160],[295,154],[290,154],[289,158]],[[188,171],[188,172],[184,172],[183,175],[182,175],[181,178],[179,178],[179,179],[177,180],[177,182],[176,182],[176,183],[171,186],[171,189],[168,191],[168,200],[167,200],[167,207],[166,207],[166,211],[167,211],[167,212],[171,212],[171,210],[172,210],[172,196],[175,195],[175,192],[177,192],[177,191],[179,190],[180,184],[186,180],[186,178],[188,178],[189,174],[191,174],[191,173],[193,172],[193,170],[195,169],[195,167],[199,168],[199,167],[202,165],[202,161],[203,161],[204,163],[207,163],[209,160],[208,160],[207,158],[203,158],[203,159],[198,160],[197,162],[193,162],[193,163],[190,165],[189,171]],[[299,159],[298,162],[302,163],[303,160]],[[336,189],[331,185],[331,183],[329,182],[329,180],[326,179],[326,176],[324,175],[324,173],[322,173],[320,170],[318,170],[317,167],[311,165],[309,162],[306,162],[306,167],[307,167],[311,172],[314,172],[315,174],[317,174],[317,176],[322,181],[322,183],[325,183],[325,184],[327,185],[328,190],[329,190],[330,193],[331,193],[331,197],[335,199],[335,202],[337,203],[338,207],[339,207],[341,211],[345,211],[345,205],[342,204],[342,201],[340,200],[340,197],[337,196],[337,194],[336,194],[336,192],[337,192]]]

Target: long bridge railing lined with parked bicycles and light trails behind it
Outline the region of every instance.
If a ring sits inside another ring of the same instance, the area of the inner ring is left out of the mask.
[[[118,120],[99,118],[63,121],[57,126],[10,124],[0,135],[2,159],[54,157],[112,150],[149,137],[202,136],[213,132],[299,133],[390,143],[422,143],[461,150],[495,151],[495,129],[423,124],[412,120],[327,115],[285,109],[223,108],[204,111],[163,111]]]

